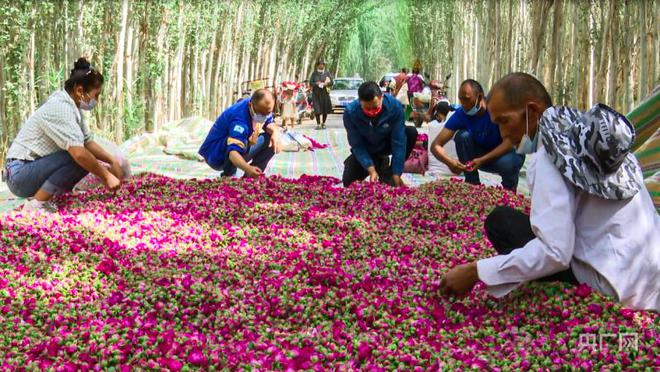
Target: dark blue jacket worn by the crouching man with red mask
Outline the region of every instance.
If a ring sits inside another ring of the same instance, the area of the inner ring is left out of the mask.
[[[403,106],[390,94],[383,95],[383,110],[378,117],[367,117],[360,101],[351,102],[344,111],[344,127],[351,152],[358,162],[369,168],[372,156],[392,151],[392,173],[401,175],[406,157],[406,123]]]

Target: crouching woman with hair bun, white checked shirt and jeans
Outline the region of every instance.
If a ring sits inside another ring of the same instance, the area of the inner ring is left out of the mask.
[[[64,89],[53,93],[21,127],[7,152],[3,173],[14,195],[33,198],[24,209],[54,211],[49,202],[53,195],[71,191],[88,172],[108,189],[119,188],[123,178],[119,160],[93,141],[80,112],[96,106],[102,87],[103,76],[80,58]]]

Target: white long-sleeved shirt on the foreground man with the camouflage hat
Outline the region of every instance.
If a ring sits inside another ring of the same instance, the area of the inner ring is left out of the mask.
[[[531,156],[527,180],[536,238],[477,262],[489,293],[504,296],[570,265],[580,283],[627,307],[660,311],[660,216],[646,189],[628,200],[588,194],[561,175],[543,145]]]

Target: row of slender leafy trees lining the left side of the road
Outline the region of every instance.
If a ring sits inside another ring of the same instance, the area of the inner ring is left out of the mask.
[[[133,43],[129,66],[126,55],[117,55],[120,33],[127,32],[121,24],[122,0],[0,0],[0,142],[9,142],[30,108],[62,87],[80,56],[106,78],[102,104],[90,123],[111,138],[121,128],[123,139],[145,130],[147,117],[162,124],[184,115],[217,115],[221,104],[232,102],[227,95],[240,81],[261,77],[257,69],[265,70],[272,43],[277,43],[277,60],[287,60],[285,69],[297,66],[296,74],[319,57],[336,65],[333,58],[344,45],[336,33],[352,27],[353,16],[375,3],[129,1],[127,26],[136,36],[123,46],[128,53]],[[117,76],[118,62],[124,63],[123,76]],[[126,80],[129,71],[132,81]],[[280,79],[291,78],[277,73]],[[34,87],[26,84],[31,74]],[[176,101],[181,108],[171,111],[168,105]],[[0,148],[0,155],[5,150]]]

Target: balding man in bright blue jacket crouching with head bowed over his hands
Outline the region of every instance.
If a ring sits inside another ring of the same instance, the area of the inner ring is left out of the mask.
[[[280,152],[279,131],[273,124],[275,96],[259,89],[251,98],[235,103],[215,121],[199,154],[223,177],[236,174],[259,177],[275,153]]]

